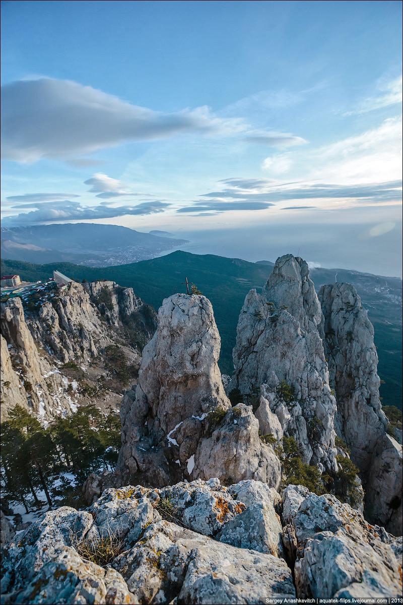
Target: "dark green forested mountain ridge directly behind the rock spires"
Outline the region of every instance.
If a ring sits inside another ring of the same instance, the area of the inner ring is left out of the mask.
[[[143,234],[144,235],[144,234]],[[172,240],[171,240],[172,241]],[[25,280],[42,280],[60,270],[75,279],[88,281],[105,278],[121,286],[132,287],[144,301],[158,309],[167,296],[185,292],[184,281],[196,283],[213,304],[221,335],[221,371],[232,373],[232,349],[236,326],[245,295],[251,288],[262,289],[271,273],[271,261],[248,263],[239,258],[197,255],[177,250],[164,257],[139,263],[109,267],[84,267],[69,263],[35,265],[3,261],[1,275],[19,273]],[[379,376],[384,405],[401,408],[402,393],[402,280],[346,269],[312,269],[311,278],[318,290],[321,285],[346,281],[355,286],[375,327]]]

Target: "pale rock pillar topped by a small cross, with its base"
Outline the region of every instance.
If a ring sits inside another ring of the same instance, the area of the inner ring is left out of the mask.
[[[120,409],[121,484],[161,487],[219,477],[279,486],[279,459],[259,439],[251,408],[240,404],[231,410],[217,363],[220,346],[205,296],[164,300],[158,330],[143,350],[138,386],[127,391]]]

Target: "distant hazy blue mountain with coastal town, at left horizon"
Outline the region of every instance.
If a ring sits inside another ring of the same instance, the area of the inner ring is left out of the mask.
[[[176,240],[166,232],[141,233],[93,223],[1,228],[2,258],[40,264],[68,262],[105,267],[136,263],[186,243],[188,240]]]

